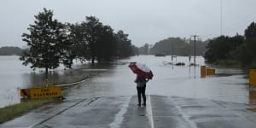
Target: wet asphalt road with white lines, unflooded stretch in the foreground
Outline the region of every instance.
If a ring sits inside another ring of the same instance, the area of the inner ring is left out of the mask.
[[[106,96],[49,104],[2,128],[255,128],[255,106],[179,96]]]

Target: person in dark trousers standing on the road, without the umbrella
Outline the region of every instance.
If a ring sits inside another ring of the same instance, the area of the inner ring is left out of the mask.
[[[137,78],[134,81],[137,84],[137,100],[138,100],[137,106],[141,106],[141,103],[142,103],[141,96],[143,96],[143,106],[146,106],[145,90],[146,90],[146,83],[148,82],[148,80],[149,79],[143,79],[142,77],[137,75]]]

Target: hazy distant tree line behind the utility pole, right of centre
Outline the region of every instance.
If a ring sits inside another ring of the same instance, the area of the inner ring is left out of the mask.
[[[207,50],[207,43],[208,41],[197,40],[194,42],[194,40],[186,38],[166,38],[151,46],[144,44],[138,49],[139,54],[143,55],[203,55]]]

